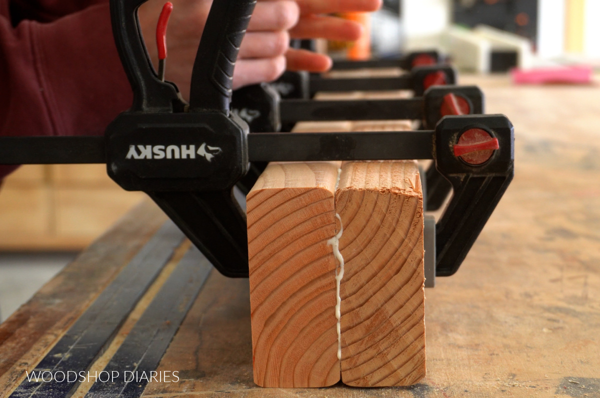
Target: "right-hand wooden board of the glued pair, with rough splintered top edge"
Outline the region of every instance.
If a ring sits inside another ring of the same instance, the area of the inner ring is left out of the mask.
[[[346,162],[335,211],[343,234],[341,375],[355,387],[425,376],[423,196],[416,162]]]

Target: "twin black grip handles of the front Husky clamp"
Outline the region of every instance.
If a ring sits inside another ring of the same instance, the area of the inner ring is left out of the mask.
[[[137,9],[147,0],[110,0],[110,19],[121,63],[133,89],[132,112],[181,111],[177,87],[154,72]],[[256,0],[214,1],[192,73],[190,110],[229,113],[233,68]]]

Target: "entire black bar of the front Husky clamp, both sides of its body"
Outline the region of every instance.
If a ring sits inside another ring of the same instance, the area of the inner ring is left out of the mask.
[[[251,162],[433,159],[433,131],[248,134]],[[0,164],[106,163],[104,137],[2,137]]]

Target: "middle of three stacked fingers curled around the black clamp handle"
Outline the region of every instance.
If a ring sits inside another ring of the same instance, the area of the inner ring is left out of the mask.
[[[290,44],[287,31],[248,32],[239,49],[239,58],[274,58],[284,55]]]

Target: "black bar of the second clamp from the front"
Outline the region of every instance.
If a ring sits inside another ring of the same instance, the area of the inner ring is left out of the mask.
[[[279,108],[281,122],[419,119],[424,113],[424,101],[422,97],[361,101],[284,99]]]

